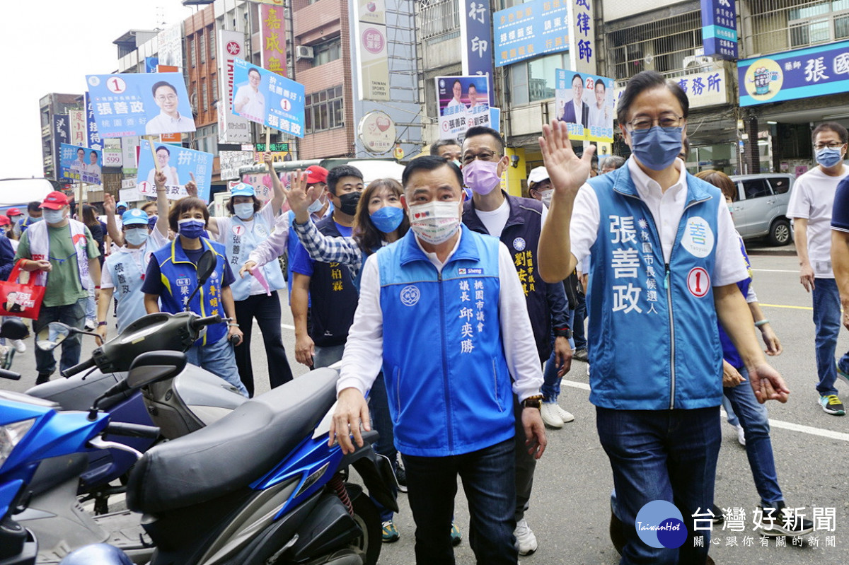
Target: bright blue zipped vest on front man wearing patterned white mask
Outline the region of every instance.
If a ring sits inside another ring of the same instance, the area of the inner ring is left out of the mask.
[[[514,437],[498,310],[498,239],[463,234],[441,274],[412,231],[377,252],[395,445],[453,456]]]

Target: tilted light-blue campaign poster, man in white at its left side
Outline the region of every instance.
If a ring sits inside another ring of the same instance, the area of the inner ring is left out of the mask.
[[[304,86],[233,59],[233,114],[304,137]]]

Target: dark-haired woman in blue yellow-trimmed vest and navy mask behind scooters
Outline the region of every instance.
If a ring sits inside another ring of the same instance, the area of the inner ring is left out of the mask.
[[[224,246],[202,237],[209,217],[206,203],[201,199],[188,196],[174,204],[168,213],[168,225],[177,233],[177,237],[156,250],[148,264],[142,283],[144,308],[148,314],[159,312],[161,300],[161,311],[183,311],[188,296],[198,286],[197,264],[200,255],[211,250],[216,255],[215,271],[203,288],[194,294],[188,309],[199,316],[218,315],[231,318],[231,321],[207,326],[206,334],[194,342],[186,356],[193,365],[218,375],[247,396],[248,391],[239,380],[233,344],[229,341],[230,338],[236,344],[242,341],[242,332],[235,322],[233,292],[230,288],[235,278],[224,255]]]

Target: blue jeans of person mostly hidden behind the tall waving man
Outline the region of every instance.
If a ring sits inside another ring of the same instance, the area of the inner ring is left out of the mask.
[[[749,372],[739,369],[745,383],[735,387],[722,388],[725,398],[731,402],[745,433],[745,454],[749,457],[751,476],[755,479],[757,494],[761,495],[763,507],[775,507],[775,502],[783,501],[779,478],[775,472],[773,442],[769,439],[769,417],[767,407],[758,403],[749,383]],[[730,419],[728,420],[730,422]]]

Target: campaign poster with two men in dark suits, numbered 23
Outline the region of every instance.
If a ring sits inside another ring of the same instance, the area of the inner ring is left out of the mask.
[[[613,141],[613,79],[556,70],[554,103],[557,119],[569,126],[569,137],[594,142]]]

